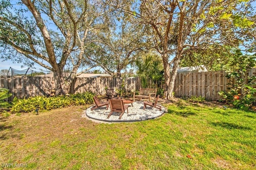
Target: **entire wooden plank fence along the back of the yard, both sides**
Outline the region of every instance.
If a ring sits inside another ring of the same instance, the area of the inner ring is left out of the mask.
[[[250,70],[249,76],[256,76],[255,68]],[[228,83],[225,71],[178,73],[174,92],[176,97],[202,96],[206,100],[214,101],[221,98],[218,92],[226,91],[230,86]],[[126,92],[138,91],[140,86],[141,82],[138,77],[124,79]],[[75,78],[69,93],[91,91],[98,95],[104,95],[105,87],[118,88],[116,78]],[[49,90],[54,89],[54,79],[53,77],[1,76],[0,88],[9,89],[12,96],[8,100],[11,102],[14,97],[23,99],[49,94]]]

